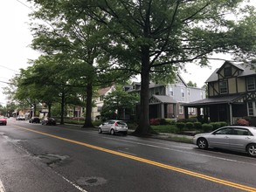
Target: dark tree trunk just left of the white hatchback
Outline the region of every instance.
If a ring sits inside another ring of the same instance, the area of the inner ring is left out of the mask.
[[[86,86],[86,120],[83,125],[84,128],[86,127],[93,127],[92,123],[92,99],[93,99],[93,86],[92,83],[87,83]]]

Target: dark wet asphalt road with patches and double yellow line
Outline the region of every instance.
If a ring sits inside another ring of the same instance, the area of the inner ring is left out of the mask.
[[[0,192],[256,191],[256,159],[192,144],[8,119]]]

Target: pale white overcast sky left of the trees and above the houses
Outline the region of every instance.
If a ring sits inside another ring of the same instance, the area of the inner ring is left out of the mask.
[[[256,3],[255,0],[253,0]],[[2,0],[0,2],[0,104],[5,105],[7,100],[3,95],[3,87],[20,68],[29,66],[28,59],[38,58],[39,53],[33,51],[31,44],[31,31],[29,30],[29,17],[31,5],[25,0]],[[204,86],[204,82],[222,61],[211,62],[211,68],[200,68],[197,65],[187,65],[186,73],[181,76],[185,82],[190,80],[197,83],[197,86]]]

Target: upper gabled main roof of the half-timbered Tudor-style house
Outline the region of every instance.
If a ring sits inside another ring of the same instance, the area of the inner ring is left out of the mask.
[[[244,64],[233,64],[232,62],[225,61],[225,63],[218,69],[216,69],[214,72],[212,72],[211,76],[209,79],[205,81],[205,83],[209,83],[212,81],[218,81],[218,72],[225,66],[225,64],[230,64],[238,68],[241,72],[238,75],[238,77],[245,77],[245,76],[250,76],[250,75],[255,75],[255,69],[253,69],[253,66],[255,67],[254,64],[250,65],[244,65]]]

